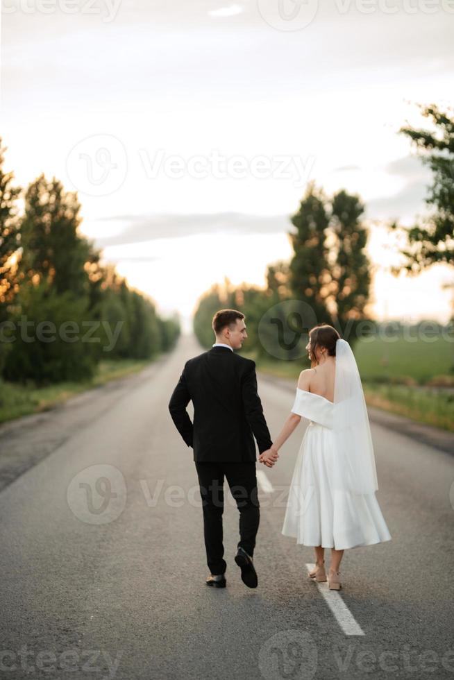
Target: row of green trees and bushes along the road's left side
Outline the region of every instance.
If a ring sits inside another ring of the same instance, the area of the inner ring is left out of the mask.
[[[44,174],[26,189],[0,138],[0,376],[37,385],[89,380],[101,359],[152,359],[178,318],[132,289],[79,232],[76,192]]]

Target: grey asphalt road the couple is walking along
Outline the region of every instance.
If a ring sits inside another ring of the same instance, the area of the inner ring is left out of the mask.
[[[312,549],[280,533],[303,420],[274,468],[258,464],[258,588],[233,561],[229,493],[227,588],[205,586],[192,450],[167,411],[199,351],[182,339],[140,375],[0,428],[0,676],[453,678],[454,457],[382,425],[392,541],[345,552],[338,596],[364,635],[345,634],[308,579]],[[269,380],[259,393],[276,436],[293,395]]]

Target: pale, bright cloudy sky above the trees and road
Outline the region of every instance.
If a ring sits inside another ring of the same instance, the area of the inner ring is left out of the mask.
[[[447,321],[446,266],[394,278],[423,215],[417,103],[453,105],[454,0],[3,0],[6,168],[76,190],[81,232],[187,326],[215,282],[289,259],[309,181],[366,204],[378,319]]]

